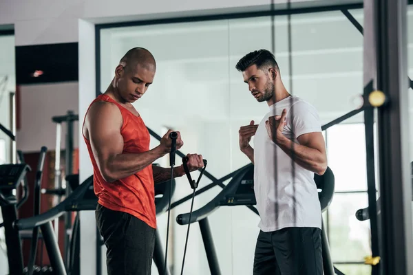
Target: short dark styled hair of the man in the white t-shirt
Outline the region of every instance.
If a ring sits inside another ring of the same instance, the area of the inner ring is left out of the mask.
[[[235,68],[240,72],[244,72],[246,68],[254,64],[257,65],[258,69],[262,69],[264,67],[275,67],[279,69],[277,61],[275,61],[274,54],[268,50],[257,50],[246,54],[240,59],[240,61],[238,61]]]

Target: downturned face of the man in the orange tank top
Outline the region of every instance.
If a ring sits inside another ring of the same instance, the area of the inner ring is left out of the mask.
[[[116,88],[125,102],[133,103],[145,94],[155,77],[152,66],[116,67]]]

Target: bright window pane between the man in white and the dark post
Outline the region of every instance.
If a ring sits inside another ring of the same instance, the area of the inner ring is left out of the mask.
[[[335,173],[335,197],[326,211],[332,261],[344,274],[368,274],[370,221],[357,210],[368,207],[366,135],[363,123],[337,124],[326,130],[328,166]]]

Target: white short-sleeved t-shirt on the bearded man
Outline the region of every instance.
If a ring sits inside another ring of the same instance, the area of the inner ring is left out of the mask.
[[[299,144],[304,133],[321,132],[317,110],[297,96],[276,102],[264,116],[254,137],[254,191],[259,228],[270,232],[287,227],[321,229],[321,206],[314,173],[293,162],[268,136],[265,122],[286,109],[283,134]],[[278,179],[278,180],[276,180]]]

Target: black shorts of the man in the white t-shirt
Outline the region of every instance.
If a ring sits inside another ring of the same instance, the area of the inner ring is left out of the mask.
[[[323,275],[321,230],[283,228],[263,232],[255,246],[253,275]]]

